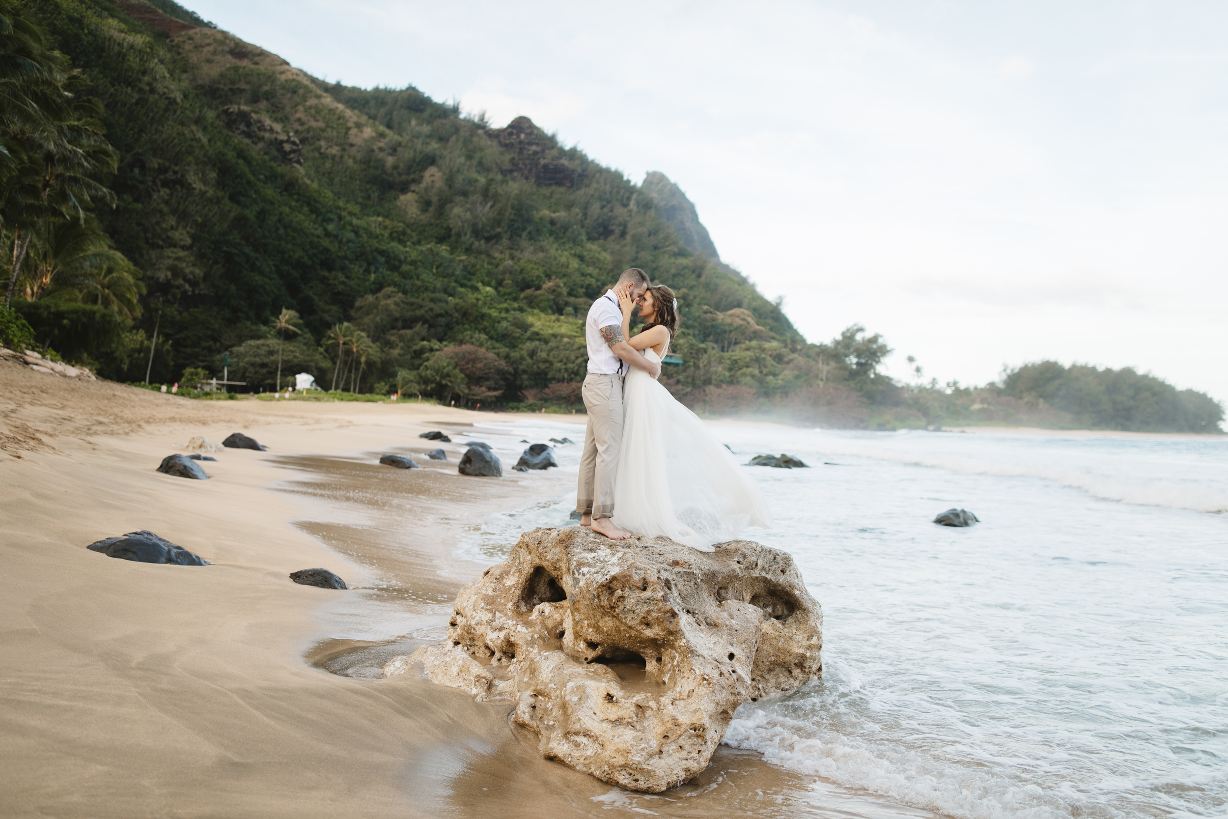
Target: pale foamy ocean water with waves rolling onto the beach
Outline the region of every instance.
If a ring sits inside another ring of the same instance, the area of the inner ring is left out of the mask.
[[[726,744],[959,818],[1228,815],[1228,440],[717,426],[824,609],[824,677]],[[577,435],[580,433],[580,435]],[[475,430],[496,451],[570,436]],[[556,448],[575,472],[580,444]],[[501,452],[502,454],[502,452]],[[567,495],[475,522],[491,561]],[[950,507],[981,523],[931,523]]]

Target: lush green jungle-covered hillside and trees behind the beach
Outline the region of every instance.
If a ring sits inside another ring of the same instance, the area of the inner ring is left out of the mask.
[[[583,316],[640,266],[679,295],[698,411],[833,426],[1216,431],[1130,370],[903,384],[882,336],[809,344],[686,249],[655,195],[527,118],[316,80],[173,0],[0,0],[0,335],[128,382],[578,406]],[[680,195],[680,193],[679,193]]]

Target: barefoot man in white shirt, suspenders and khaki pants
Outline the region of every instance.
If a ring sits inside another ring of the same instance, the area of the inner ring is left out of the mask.
[[[624,270],[614,289],[630,289],[631,298],[639,302],[648,290],[648,274],[640,268]],[[645,359],[623,338],[623,311],[614,289],[593,302],[585,322],[588,375],[585,376],[581,394],[588,410],[588,429],[585,430],[585,453],[580,458],[576,511],[581,516],[580,526],[592,527],[593,532],[613,540],[623,540],[630,535],[610,522],[618,451],[623,440],[623,377],[630,365],[656,378],[661,365]]]

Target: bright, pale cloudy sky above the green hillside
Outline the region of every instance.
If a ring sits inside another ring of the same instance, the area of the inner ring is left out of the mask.
[[[661,171],[809,340],[861,324],[896,377],[1052,359],[1228,403],[1219,0],[187,5],[314,76]]]

